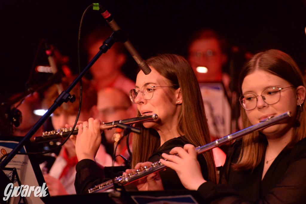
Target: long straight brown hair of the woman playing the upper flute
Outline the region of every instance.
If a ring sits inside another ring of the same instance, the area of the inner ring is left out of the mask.
[[[177,131],[185,134],[185,139],[193,145],[202,146],[209,143],[210,136],[200,87],[185,58],[175,54],[160,54],[147,59],[146,62],[168,79],[174,89],[181,88],[183,100]],[[141,128],[142,133],[133,136],[132,167],[138,162],[147,161],[160,147],[160,137],[155,129],[144,128],[142,124],[136,124],[136,127]],[[216,182],[212,151],[207,151],[203,155],[208,166],[208,178]]]

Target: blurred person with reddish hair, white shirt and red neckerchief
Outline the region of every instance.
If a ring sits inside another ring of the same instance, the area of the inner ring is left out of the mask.
[[[75,79],[73,77],[62,78],[62,86],[66,89]],[[82,94],[82,107],[80,111],[79,120],[86,121],[90,117],[94,117],[96,113],[97,94],[93,86],[88,80],[82,80],[83,94]],[[46,91],[46,96],[43,99],[43,106],[50,107],[54,100],[58,97],[58,88],[56,85],[51,86]],[[80,99],[80,85],[79,83],[70,91],[71,95],[76,96],[76,101],[71,103],[64,103],[58,107],[51,115],[52,125],[55,129],[65,128],[66,124],[73,125],[76,120],[76,114],[79,108]],[[103,166],[111,166],[112,159],[106,153],[103,145],[100,145],[95,160]],[[75,180],[75,166],[77,163],[76,151],[73,143],[67,140],[62,146],[59,155],[57,156],[54,164],[52,165],[48,174],[44,174],[44,179],[50,195],[67,195],[75,194],[74,180]]]

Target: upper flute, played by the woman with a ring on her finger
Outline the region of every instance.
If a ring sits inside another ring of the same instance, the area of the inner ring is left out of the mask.
[[[157,114],[142,115],[140,117],[133,117],[133,118],[128,118],[128,119],[124,119],[120,121],[102,123],[100,125],[100,130],[116,128],[118,126],[118,123],[129,125],[129,124],[151,121],[151,120],[156,120],[156,119],[158,119]],[[72,135],[76,135],[78,133],[78,130],[79,130],[78,127],[74,128]],[[46,131],[46,132],[43,132],[41,136],[35,137],[34,141],[39,143],[39,142],[46,142],[46,141],[51,141],[55,139],[65,138],[69,135],[71,131],[72,131],[72,128],[62,128],[62,129],[57,129],[57,130]]]

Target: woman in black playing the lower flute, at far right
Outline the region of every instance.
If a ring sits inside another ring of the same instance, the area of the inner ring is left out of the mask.
[[[305,81],[288,54],[267,50],[252,57],[239,77],[243,128],[291,111],[292,117],[237,139],[219,185],[203,179],[192,145],[162,154],[182,184],[212,203],[305,203]],[[188,153],[187,153],[187,152]],[[187,174],[188,172],[188,174]]]

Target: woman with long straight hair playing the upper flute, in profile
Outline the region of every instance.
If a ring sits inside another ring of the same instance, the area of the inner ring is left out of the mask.
[[[137,116],[157,114],[158,119],[135,124],[141,129],[141,134],[133,134],[132,169],[159,161],[161,154],[169,153],[173,147],[183,147],[187,143],[199,146],[210,142],[200,88],[188,62],[174,54],[157,55],[146,62],[151,72],[148,75],[138,72],[136,88],[129,95],[137,105]],[[79,125],[76,138],[71,137],[79,160],[76,165],[77,193],[88,192],[88,189],[105,181],[103,169],[93,161],[101,143],[99,125],[98,119],[90,118]],[[216,183],[212,151],[199,155],[198,159],[203,177]],[[153,173],[136,181],[135,185],[142,191],[160,190],[155,187],[161,185],[165,190],[185,189],[170,168],[160,172],[160,177]]]

